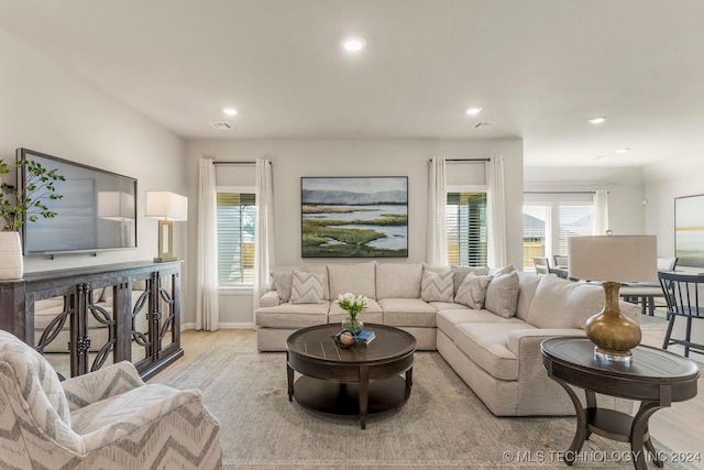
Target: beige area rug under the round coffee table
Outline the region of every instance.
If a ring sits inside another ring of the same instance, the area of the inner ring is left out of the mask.
[[[222,424],[226,469],[568,468],[559,456],[575,426],[573,417],[493,416],[437,352],[416,353],[409,401],[371,416],[365,430],[355,418],[288,402],[280,352],[213,347],[168,384],[202,391]],[[632,468],[613,461],[624,458],[626,444],[593,436],[583,450],[590,461],[575,469]]]

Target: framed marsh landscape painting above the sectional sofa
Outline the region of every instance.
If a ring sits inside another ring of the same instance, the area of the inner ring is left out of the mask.
[[[408,177],[302,177],[302,258],[407,258]]]

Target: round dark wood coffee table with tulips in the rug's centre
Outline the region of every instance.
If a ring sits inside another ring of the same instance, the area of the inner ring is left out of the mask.
[[[348,349],[332,339],[340,331],[337,324],[304,328],[289,336],[288,400],[323,413],[359,415],[362,429],[369,414],[406,403],[413,385],[416,338],[384,325],[365,324],[364,329],[374,331],[376,338]],[[295,383],[294,371],[301,374]]]

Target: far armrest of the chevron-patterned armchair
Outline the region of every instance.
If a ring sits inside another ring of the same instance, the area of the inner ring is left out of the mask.
[[[72,412],[142,385],[144,381],[128,361],[62,382]]]

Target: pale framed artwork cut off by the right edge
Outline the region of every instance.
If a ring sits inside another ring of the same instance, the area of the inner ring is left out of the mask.
[[[678,265],[704,267],[704,195],[674,199],[674,252]]]

